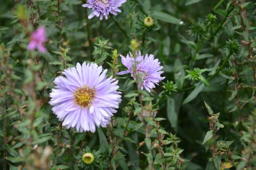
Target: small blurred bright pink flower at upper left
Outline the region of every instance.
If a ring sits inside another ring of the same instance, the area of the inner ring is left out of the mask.
[[[28,50],[35,50],[36,48],[41,53],[46,52],[46,48],[44,47],[44,43],[46,41],[46,31],[44,27],[38,28],[34,31],[30,36],[30,42],[28,44]]]

